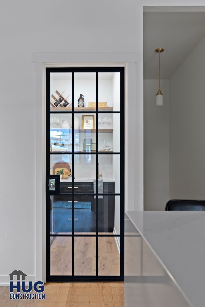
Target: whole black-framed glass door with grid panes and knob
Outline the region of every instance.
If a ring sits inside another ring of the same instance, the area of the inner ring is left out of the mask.
[[[124,68],[46,68],[46,280],[124,280]]]

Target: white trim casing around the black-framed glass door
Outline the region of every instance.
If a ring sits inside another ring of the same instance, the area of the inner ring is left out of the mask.
[[[69,63],[65,61],[69,59]],[[79,60],[81,58],[81,61]],[[46,60],[47,59],[47,60]],[[92,59],[98,59],[93,63]],[[122,61],[116,62],[113,59]],[[132,61],[130,61],[130,59]],[[45,223],[45,68],[46,67],[124,67],[125,68],[125,210],[128,209],[128,201],[134,204],[135,196],[135,171],[133,164],[128,165],[128,99],[136,101],[136,59],[134,52],[42,52],[32,55],[32,62],[35,63],[35,124],[36,124],[36,193],[35,193],[35,218],[36,218],[36,280],[45,282],[46,268],[46,223]],[[73,61],[72,61],[73,60]],[[75,60],[75,61],[74,61]],[[79,60],[78,62],[76,60]],[[83,60],[83,61],[82,61]],[[53,63],[52,63],[53,62]],[[128,77],[129,70],[129,77]],[[129,82],[129,80],[131,82]],[[129,92],[129,96],[128,96]],[[133,133],[133,131],[132,131]],[[143,150],[143,148],[142,148]],[[134,157],[135,146],[129,146]],[[129,158],[130,160],[130,158]],[[132,159],[131,159],[132,160]],[[134,161],[132,161],[134,163]],[[129,172],[129,177],[128,177]],[[142,174],[143,180],[143,174]],[[132,194],[129,191],[132,190]],[[132,208],[129,208],[129,210]]]

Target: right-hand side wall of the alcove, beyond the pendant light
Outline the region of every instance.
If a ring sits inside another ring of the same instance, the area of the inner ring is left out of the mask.
[[[170,79],[170,198],[204,199],[205,38]]]

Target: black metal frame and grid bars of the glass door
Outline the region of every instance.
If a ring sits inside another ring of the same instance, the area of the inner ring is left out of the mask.
[[[51,72],[72,72],[72,111],[50,111],[50,73]],[[84,196],[84,193],[74,193],[74,178],[72,179],[72,194],[60,193],[60,176],[50,175],[50,114],[72,114],[72,122],[74,123],[74,73],[75,72],[96,72],[96,111],[77,111],[75,114],[88,113],[96,114],[96,178],[98,177],[98,155],[100,154],[120,154],[120,173],[124,174],[124,67],[105,68],[105,67],[77,67],[77,68],[46,68],[46,281],[49,282],[97,282],[97,281],[124,281],[124,176],[120,176],[120,193],[98,194],[98,185],[96,185],[96,194],[86,193],[86,195],[96,195],[96,234],[95,235],[77,235],[74,234],[74,196]],[[98,72],[120,72],[120,111],[98,111]],[[120,114],[120,152],[98,152],[98,114],[101,113],[118,113]],[[74,125],[72,125],[72,172],[74,173]],[[59,154],[53,152],[52,154]],[[88,153],[80,153],[88,154]],[[56,179],[56,191],[49,192],[49,178]],[[50,196],[63,195],[72,196],[72,234],[50,234]],[[103,196],[120,196],[120,235],[99,235],[98,234],[98,195]],[[72,237],[72,275],[50,275],[50,238],[51,237]],[[96,237],[96,276],[79,276],[74,275],[74,238],[75,237]],[[119,276],[99,276],[98,275],[98,237],[120,237],[120,275]]]

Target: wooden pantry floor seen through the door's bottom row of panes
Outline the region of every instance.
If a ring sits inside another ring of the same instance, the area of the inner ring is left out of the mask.
[[[51,275],[72,275],[72,237],[51,244]],[[96,275],[96,237],[75,237],[74,274]],[[98,274],[120,275],[120,254],[114,237],[98,237]]]

